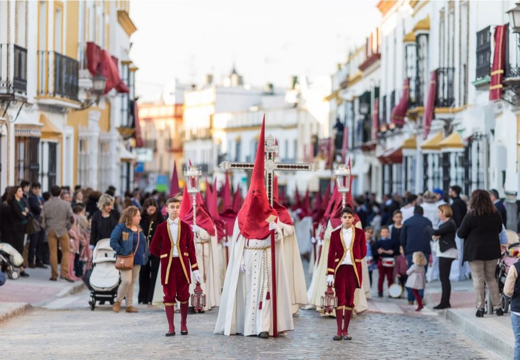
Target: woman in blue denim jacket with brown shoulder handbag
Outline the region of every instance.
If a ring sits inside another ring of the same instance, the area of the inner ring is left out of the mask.
[[[146,263],[144,255],[146,238],[139,226],[141,214],[135,206],[126,208],[121,215],[119,224],[110,235],[110,246],[117,254],[115,268],[121,272],[121,284],[118,297],[112,310],[119,313],[121,302],[126,297],[126,312],[137,313],[133,306],[134,284],[139,275],[141,265]]]

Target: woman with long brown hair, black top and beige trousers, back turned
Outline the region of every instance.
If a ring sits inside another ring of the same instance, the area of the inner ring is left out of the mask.
[[[499,234],[502,231],[502,217],[489,198],[486,190],[474,190],[471,194],[469,210],[457,230],[457,236],[464,239],[462,262],[469,261],[473,291],[477,302],[477,317],[484,316],[484,284],[491,297],[493,309],[498,316],[503,315],[502,303],[495,277],[497,262],[501,255]]]

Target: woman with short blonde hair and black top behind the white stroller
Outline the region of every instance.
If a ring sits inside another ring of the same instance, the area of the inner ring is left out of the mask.
[[[119,222],[119,211],[114,209],[114,198],[103,194],[97,202],[98,210],[92,215],[90,226],[90,248],[94,249],[101,239],[107,239]]]

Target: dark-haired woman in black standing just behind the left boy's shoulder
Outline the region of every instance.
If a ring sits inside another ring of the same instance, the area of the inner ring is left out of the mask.
[[[140,226],[146,237],[147,249],[150,248],[150,242],[152,241],[153,234],[155,234],[157,225],[163,221],[164,217],[159,211],[157,201],[153,198],[146,199],[142,205]],[[150,254],[147,263],[141,266],[141,270],[139,271],[139,303],[152,303],[155,280],[157,280],[157,273],[159,272],[159,263],[160,259]]]

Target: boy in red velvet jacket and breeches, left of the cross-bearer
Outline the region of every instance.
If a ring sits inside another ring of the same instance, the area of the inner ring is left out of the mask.
[[[191,272],[200,282],[199,265],[190,226],[179,219],[180,201],[170,198],[166,201],[168,219],[157,226],[150,244],[150,254],[161,259],[161,284],[164,291],[164,309],[168,320],[166,336],[175,335],[173,323],[175,298],[180,302],[180,335],[188,335],[189,284]],[[191,267],[190,267],[191,263]]]

